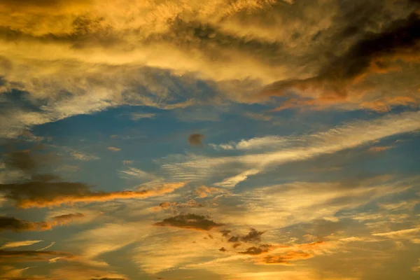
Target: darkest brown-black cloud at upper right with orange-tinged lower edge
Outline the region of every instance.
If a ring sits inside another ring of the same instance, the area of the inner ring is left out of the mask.
[[[359,27],[349,26],[341,36],[357,34]],[[339,38],[337,38],[339,40]],[[395,20],[379,33],[363,32],[356,43],[330,60],[317,76],[303,80],[281,80],[263,90],[263,94],[288,95],[288,90],[321,90],[318,101],[289,99],[279,109],[314,105],[346,99],[349,87],[359,83],[369,73],[386,73],[395,69],[388,66],[395,59],[416,61],[420,55],[420,16],[411,13],[407,18]],[[396,101],[403,102],[401,99]]]

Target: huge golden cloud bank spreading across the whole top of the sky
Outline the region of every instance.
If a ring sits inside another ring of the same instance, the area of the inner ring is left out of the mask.
[[[369,62],[388,54],[415,61],[416,54],[415,20],[408,16],[418,6],[413,1],[316,1],[311,6],[274,0],[21,2],[0,5],[1,90],[24,92],[23,103],[30,106],[2,111],[1,137],[116,106],[269,102],[258,92],[276,80],[325,87],[327,94],[320,95],[328,103],[328,91],[339,90],[329,80],[323,86],[318,76],[324,81],[335,74],[339,79],[367,69],[398,69]],[[386,85],[405,100],[383,102],[415,104],[416,94],[406,94],[407,87],[395,80],[387,78]],[[279,83],[277,91],[288,87]],[[354,103],[368,107],[381,99],[367,95],[372,98]]]

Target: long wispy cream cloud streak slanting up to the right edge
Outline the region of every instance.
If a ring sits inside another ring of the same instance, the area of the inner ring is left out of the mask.
[[[420,112],[406,112],[374,120],[347,123],[325,132],[304,134],[287,139],[279,138],[280,148],[272,144],[271,150],[259,153],[219,157],[190,154],[186,157],[177,157],[175,162],[170,162],[169,160],[172,158],[168,157],[168,162],[164,162],[162,169],[171,179],[198,181],[226,173],[229,167],[239,166],[241,169],[239,175],[225,179],[227,180],[225,183],[233,186],[239,181],[244,181],[248,175],[257,174],[257,170],[263,172],[287,162],[309,160],[319,155],[337,153],[345,149],[370,144],[370,142],[384,137],[414,132],[419,129]],[[272,142],[273,137],[269,137],[269,141]],[[258,139],[258,142],[261,142],[261,139]]]

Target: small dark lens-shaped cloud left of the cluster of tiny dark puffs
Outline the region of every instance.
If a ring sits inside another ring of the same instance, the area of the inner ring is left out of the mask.
[[[216,223],[209,220],[207,216],[196,214],[180,214],[171,218],[165,218],[163,221],[154,223],[161,227],[186,228],[189,230],[211,230],[222,226],[221,223]]]

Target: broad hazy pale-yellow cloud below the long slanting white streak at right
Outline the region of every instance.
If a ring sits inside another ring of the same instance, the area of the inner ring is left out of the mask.
[[[241,193],[241,210],[237,213],[218,212],[223,223],[251,224],[265,229],[283,228],[316,219],[335,217],[337,212],[349,211],[381,197],[391,197],[414,188],[417,183],[407,179],[374,177],[351,182],[304,183],[294,182],[260,187]],[[273,215],[276,213],[276,215]],[[232,240],[236,242],[238,240]]]

